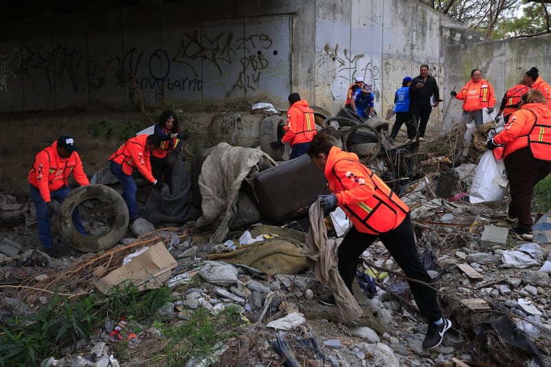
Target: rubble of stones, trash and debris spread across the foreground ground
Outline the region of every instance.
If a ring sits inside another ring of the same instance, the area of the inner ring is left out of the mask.
[[[421,157],[435,158],[426,164],[445,164],[436,154]],[[67,292],[90,292],[99,273],[74,289],[73,277],[81,276],[74,269],[90,274],[103,266],[101,275],[105,275],[121,266],[129,253],[162,242],[177,264],[164,284],[173,289],[174,301],[158,310],[160,317],[176,321],[189,317],[196,308],[216,313],[236,305],[247,331],[229,339],[218,355],[191,360],[188,366],[205,366],[209,358],[220,366],[269,366],[274,362],[288,366],[451,366],[453,361],[550,366],[551,304],[547,295],[551,291],[551,244],[545,233],[538,236],[537,231],[534,238],[539,243],[508,235],[510,223],[503,207],[492,209],[468,202],[466,193],[475,167],[464,164],[453,169],[457,180],[453,185],[446,182],[453,193],[447,197],[439,194],[446,187],[439,187],[439,175],[434,174],[439,169],[434,167],[403,190],[419,253],[433,276],[444,315],[453,322],[444,343],[433,350],[422,347],[426,324],[399,267],[379,242],[362,254],[359,267],[375,280],[375,292],[366,293],[355,284],[355,298],[363,315],[350,324],[340,324],[333,308],[318,302],[327,289],[312,271],[284,274],[278,269],[212,260],[215,254],[238,251],[251,243],[262,246],[278,240],[291,244],[291,249],[300,247],[305,233],[260,225],[246,232],[246,241],[239,243],[233,238],[217,244],[208,241],[209,233],[193,227],[159,228],[137,237],[128,233],[120,244],[103,253],[82,254],[67,248],[67,256],[55,259],[34,250],[39,248],[34,208],[28,197],[18,195],[0,196],[2,317],[22,310],[32,312],[36,307],[32,304],[48,297],[41,289],[51,291],[59,286]],[[105,258],[111,259],[109,266],[102,262]],[[116,326],[115,320],[107,320],[101,333],[73,346],[63,358],[52,356],[44,365],[116,366],[119,362],[110,350]],[[146,328],[129,348],[152,353],[151,342],[159,337],[154,328]],[[125,364],[132,365],[132,356],[127,358]]]

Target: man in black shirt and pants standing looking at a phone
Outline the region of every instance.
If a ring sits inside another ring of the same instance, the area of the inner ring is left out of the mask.
[[[409,87],[410,112],[417,129],[419,141],[426,141],[425,129],[433,107],[437,107],[440,100],[440,92],[436,79],[428,74],[428,65],[423,64],[419,68],[419,76],[415,76]],[[430,103],[433,97],[434,104]]]

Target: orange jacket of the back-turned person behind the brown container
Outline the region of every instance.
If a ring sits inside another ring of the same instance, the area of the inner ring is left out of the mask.
[[[308,102],[305,99],[295,102],[289,107],[287,126],[284,129],[287,132],[281,141],[282,143],[291,143],[291,147],[300,143],[309,143],[315,134],[318,134],[315,127],[314,111],[308,107]]]

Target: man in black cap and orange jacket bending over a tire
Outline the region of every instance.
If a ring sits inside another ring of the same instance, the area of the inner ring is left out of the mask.
[[[39,238],[44,252],[54,257],[59,257],[63,253],[54,247],[52,240],[50,216],[56,210],[53,200],[61,203],[71,192],[67,180],[70,174],[73,175],[79,185],[90,185],[90,181],[84,173],[81,157],[76,151],[74,138],[63,135],[54,141],[52,145],[42,149],[34,156],[34,162],[28,176],[30,196],[32,202],[34,202],[34,211],[39,228]],[[86,235],[78,209],[74,209],[72,219],[76,230],[82,235]]]

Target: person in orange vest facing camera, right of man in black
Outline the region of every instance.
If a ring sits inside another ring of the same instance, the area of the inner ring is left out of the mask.
[[[482,125],[482,109],[486,108],[488,114],[494,112],[496,103],[494,87],[482,78],[480,69],[473,69],[470,72],[470,81],[459,92],[453,90],[451,95],[463,101],[461,120],[465,122],[466,129],[461,158],[464,160],[469,154],[472,135],[475,134],[477,127]],[[473,121],[475,125],[472,125]]]

